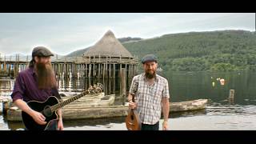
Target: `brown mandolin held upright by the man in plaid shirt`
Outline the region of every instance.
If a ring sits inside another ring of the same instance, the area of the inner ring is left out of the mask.
[[[134,95],[138,90],[138,82],[134,83],[134,86],[132,86],[132,101],[135,102]],[[142,122],[139,119],[137,110],[130,109],[128,111],[128,115],[126,117],[126,128],[127,130],[141,130],[142,128]]]

